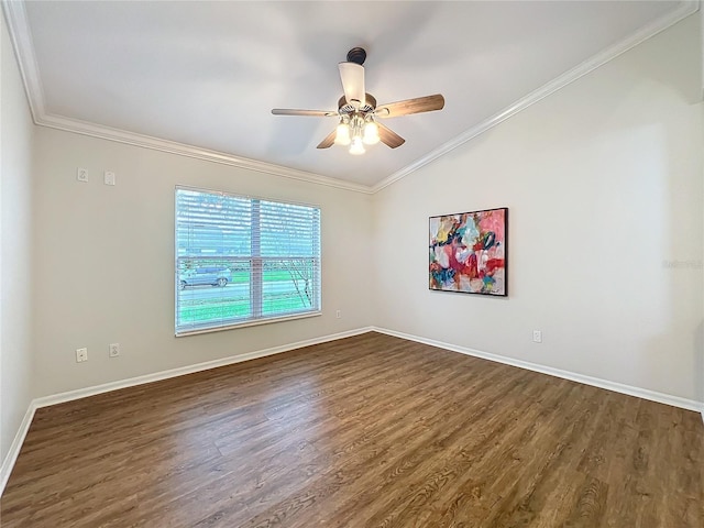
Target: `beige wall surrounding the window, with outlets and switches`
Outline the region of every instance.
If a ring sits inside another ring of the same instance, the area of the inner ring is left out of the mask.
[[[366,327],[367,195],[41,128],[36,133],[35,396]],[[76,168],[90,180],[76,180]],[[117,173],[117,186],[102,172]],[[323,315],[174,337],[174,188],[317,204]],[[342,318],[336,318],[336,310]],[[119,342],[121,355],[108,358]],[[75,350],[88,348],[88,362]]]

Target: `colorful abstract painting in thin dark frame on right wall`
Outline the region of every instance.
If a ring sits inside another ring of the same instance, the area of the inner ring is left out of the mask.
[[[506,295],[508,209],[430,217],[430,289]]]

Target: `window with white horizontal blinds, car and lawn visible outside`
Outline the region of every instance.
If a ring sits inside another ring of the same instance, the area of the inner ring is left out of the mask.
[[[176,336],[319,314],[319,208],[176,188]]]

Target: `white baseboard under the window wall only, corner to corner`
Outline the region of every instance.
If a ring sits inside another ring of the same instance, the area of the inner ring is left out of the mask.
[[[34,399],[33,404],[36,406],[36,408],[48,407],[50,405],[63,404],[65,402],[87,398],[88,396],[96,396],[98,394],[109,393],[111,391],[118,391],[120,388],[134,387],[138,385],[144,385],[145,383],[160,382],[162,380],[169,380],[172,377],[193,374],[195,372],[202,372],[210,369],[217,369],[219,366],[232,365],[234,363],[241,363],[243,361],[266,358],[268,355],[280,354],[282,352],[288,352],[290,350],[310,346],[314,344],[327,343],[329,341],[336,341],[338,339],[351,338],[352,336],[359,336],[361,333],[371,331],[372,327],[358,328],[354,330],[348,330],[345,332],[307,339],[305,341],[298,341],[296,343],[282,344],[279,346],[272,346],[271,349],[264,350],[255,350],[253,352],[246,352],[240,355],[231,355],[228,358],[222,358],[220,360],[207,361],[205,363],[197,363],[195,365],[188,366],[179,366],[177,369],[170,369],[168,371],[155,372],[153,374],[145,374],[143,376],[130,377],[128,380],[120,380],[118,382],[103,383],[102,385],[95,385],[92,387],[78,388],[76,391],[68,391],[66,393],[44,396]]]

